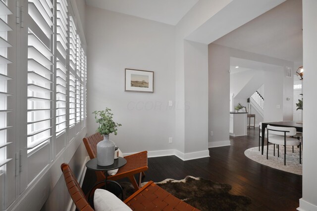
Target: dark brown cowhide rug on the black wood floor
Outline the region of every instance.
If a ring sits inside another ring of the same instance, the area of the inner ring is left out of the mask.
[[[146,182],[142,183],[142,186],[144,184]],[[251,204],[249,197],[229,194],[231,185],[200,177],[186,176],[182,180],[165,179],[156,184],[201,211],[246,211]],[[131,183],[120,182],[120,185],[124,199],[134,193]]]

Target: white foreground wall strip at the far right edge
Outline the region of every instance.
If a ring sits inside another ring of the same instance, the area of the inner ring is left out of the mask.
[[[303,0],[303,198],[301,211],[317,210],[317,141],[316,141],[316,90],[317,90],[317,1]]]

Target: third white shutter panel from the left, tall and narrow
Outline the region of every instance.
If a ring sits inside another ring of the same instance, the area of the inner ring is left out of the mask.
[[[57,0],[56,4],[56,136],[66,129],[67,103],[67,50],[68,50],[68,9],[67,0]]]

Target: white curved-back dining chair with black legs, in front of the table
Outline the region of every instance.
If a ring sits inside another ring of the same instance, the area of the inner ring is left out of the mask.
[[[301,142],[297,138],[291,136],[296,135],[295,127],[275,127],[267,125],[267,145],[266,145],[266,159],[268,159],[268,143],[274,144],[273,156],[275,156],[275,144],[277,144],[277,156],[279,157],[279,145],[284,145],[284,165],[286,165],[286,146],[299,145],[299,163],[301,164],[302,150]],[[294,152],[294,149],[293,149]]]

